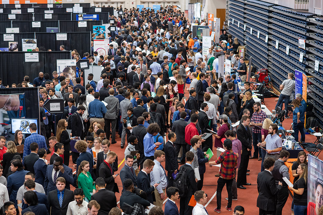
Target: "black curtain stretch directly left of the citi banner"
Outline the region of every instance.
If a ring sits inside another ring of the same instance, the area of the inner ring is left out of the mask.
[[[25,62],[25,53],[30,52],[0,52],[0,77],[3,84],[21,83],[28,75],[30,82],[38,77],[38,73],[49,73],[56,70],[57,59],[70,59],[70,52],[38,52],[39,62]]]

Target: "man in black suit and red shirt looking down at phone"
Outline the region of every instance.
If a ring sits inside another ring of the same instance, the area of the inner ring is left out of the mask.
[[[105,159],[99,167],[99,177],[102,177],[105,181],[106,189],[112,192],[119,192],[117,183],[114,181],[117,176],[114,174],[114,170],[111,165],[117,158],[117,154],[113,151],[110,151],[107,154],[107,159]]]

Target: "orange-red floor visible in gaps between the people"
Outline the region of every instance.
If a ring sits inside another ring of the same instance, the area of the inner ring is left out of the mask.
[[[185,96],[188,98],[189,93],[185,91]],[[265,98],[266,106],[269,110],[275,109],[275,98]],[[186,100],[185,100],[186,102]],[[292,115],[290,119],[285,119],[283,122],[283,127],[288,130],[292,123]],[[124,166],[124,149],[120,148],[120,142],[121,138],[119,138],[119,135],[116,135],[116,144],[113,144],[110,146],[111,151],[115,151],[119,155],[119,171],[117,171],[115,174],[119,173],[121,168]],[[299,135],[300,136],[300,135]],[[167,137],[167,136],[166,136]],[[307,134],[306,135],[306,142],[314,142],[316,140],[316,137]],[[216,151],[214,150],[214,154],[216,155]],[[323,154],[320,154],[319,158],[323,159]],[[215,161],[217,158],[216,156],[213,156],[210,161]],[[164,164],[163,164],[164,166]],[[70,161],[70,167],[73,168],[73,164]],[[257,191],[257,174],[260,172],[261,168],[261,161],[257,161],[257,159],[253,159],[249,161],[248,169],[250,170],[250,175],[247,176],[247,182],[251,183],[251,186],[245,186],[247,189],[241,190],[238,189],[238,200],[232,202],[232,209],[234,209],[235,206],[241,205],[245,208],[245,214],[258,214],[258,208],[256,206],[257,197],[258,197],[258,191]],[[74,170],[75,171],[75,170]],[[218,167],[209,167],[206,165],[206,172],[204,174],[204,185],[203,185],[203,191],[208,194],[208,203],[206,205],[206,209],[208,210],[209,214],[216,214],[214,212],[214,208],[216,208],[216,185],[218,177],[215,177],[214,175],[219,172]],[[119,186],[119,190],[122,190],[122,184],[119,177],[116,178],[116,182]],[[72,189],[74,190],[74,189]],[[120,199],[121,193],[116,193],[117,201],[118,201],[118,207],[119,207],[119,199]],[[222,191],[222,201],[221,201],[221,214],[232,214],[232,212],[225,209],[225,206],[227,205],[227,200],[225,198],[227,197],[227,191],[224,187]],[[166,199],[165,199],[166,200]],[[176,202],[178,208],[179,208],[179,200]],[[292,204],[292,197],[289,196],[288,200],[285,204],[285,207],[283,209],[284,215],[291,214],[291,204]]]

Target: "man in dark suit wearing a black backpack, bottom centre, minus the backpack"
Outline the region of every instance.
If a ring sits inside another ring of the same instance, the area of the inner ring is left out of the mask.
[[[186,173],[187,193],[180,198],[180,215],[192,214],[193,207],[188,206],[188,203],[192,195],[197,191],[197,181],[195,181],[195,177],[192,177],[194,175],[194,170],[191,166],[194,160],[193,151],[186,152],[185,157],[186,163],[181,166],[180,171],[185,171]]]

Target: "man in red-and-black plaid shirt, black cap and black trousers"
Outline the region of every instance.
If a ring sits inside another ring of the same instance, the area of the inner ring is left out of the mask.
[[[221,213],[221,193],[224,185],[228,191],[228,205],[225,206],[226,210],[232,211],[232,182],[234,179],[234,168],[238,164],[238,156],[232,151],[232,142],[230,139],[225,139],[223,142],[224,152],[220,154],[216,161],[209,162],[209,166],[221,163],[220,177],[218,179],[218,186],[216,189],[216,204],[217,207],[214,211]]]

